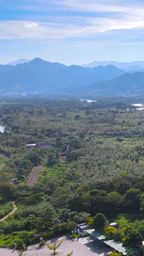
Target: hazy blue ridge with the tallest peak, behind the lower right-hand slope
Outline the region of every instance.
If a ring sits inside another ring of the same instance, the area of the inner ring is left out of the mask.
[[[43,61],[39,58],[16,66],[1,66],[0,91],[43,91],[81,93],[93,83],[120,76],[125,71],[113,66],[83,68]]]

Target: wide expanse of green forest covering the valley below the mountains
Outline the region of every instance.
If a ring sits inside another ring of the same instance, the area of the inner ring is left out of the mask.
[[[124,100],[1,99],[0,125],[0,219],[17,205],[0,221],[1,247],[63,234],[72,221],[94,227],[97,213],[108,238],[144,240],[144,110]],[[37,143],[51,146],[26,147]]]

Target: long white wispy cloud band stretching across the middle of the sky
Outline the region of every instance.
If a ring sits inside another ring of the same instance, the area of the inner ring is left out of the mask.
[[[44,23],[31,21],[0,22],[0,39],[63,39],[71,37],[91,37],[111,30],[143,29],[143,20],[103,18],[103,17],[65,17],[65,23]]]

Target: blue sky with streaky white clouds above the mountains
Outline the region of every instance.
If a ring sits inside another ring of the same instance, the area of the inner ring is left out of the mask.
[[[144,0],[0,0],[0,63],[144,61]]]

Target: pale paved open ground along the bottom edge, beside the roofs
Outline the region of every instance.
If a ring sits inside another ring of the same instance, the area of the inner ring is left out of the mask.
[[[106,246],[99,241],[93,240],[90,237],[78,238],[78,239],[68,239],[66,236],[63,237],[63,242],[60,247],[56,250],[58,256],[66,256],[73,250],[72,256],[108,256],[110,251]],[[55,240],[60,240],[62,237],[52,239],[48,241],[48,244],[53,244]],[[1,256],[18,256],[18,251],[0,248]],[[32,245],[28,247],[25,252],[26,256],[50,256],[52,253],[48,249],[47,245],[39,247],[38,245]]]

